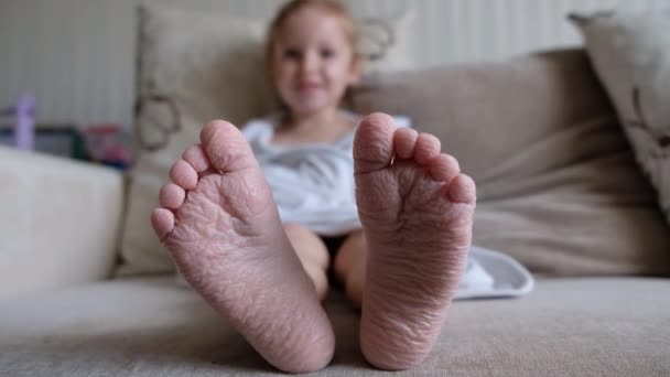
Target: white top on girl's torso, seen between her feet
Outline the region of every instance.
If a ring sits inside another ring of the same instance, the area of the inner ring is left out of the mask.
[[[348,114],[354,121],[359,117]],[[298,223],[323,236],[360,228],[354,184],[354,134],[335,143],[271,144],[279,117],[248,122],[242,134],[270,184],[282,223]],[[396,118],[408,127],[406,118]]]

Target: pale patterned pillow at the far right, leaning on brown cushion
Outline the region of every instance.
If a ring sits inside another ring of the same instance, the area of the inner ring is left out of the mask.
[[[670,222],[670,9],[570,19]]]

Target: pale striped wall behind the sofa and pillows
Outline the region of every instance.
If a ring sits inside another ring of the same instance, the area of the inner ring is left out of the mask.
[[[0,0],[0,107],[37,97],[41,121],[130,125],[140,0]],[[282,0],[149,0],[166,7],[270,17]],[[670,7],[670,0],[349,0],[360,15],[417,18],[418,66],[499,60],[576,45],[565,13]]]

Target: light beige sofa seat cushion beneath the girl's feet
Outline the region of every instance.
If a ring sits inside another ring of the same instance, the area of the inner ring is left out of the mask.
[[[372,375],[357,313],[334,289],[334,375]],[[518,300],[458,301],[426,362],[402,375],[668,376],[670,280],[539,279]],[[173,277],[109,281],[0,303],[2,376],[274,373]]]

